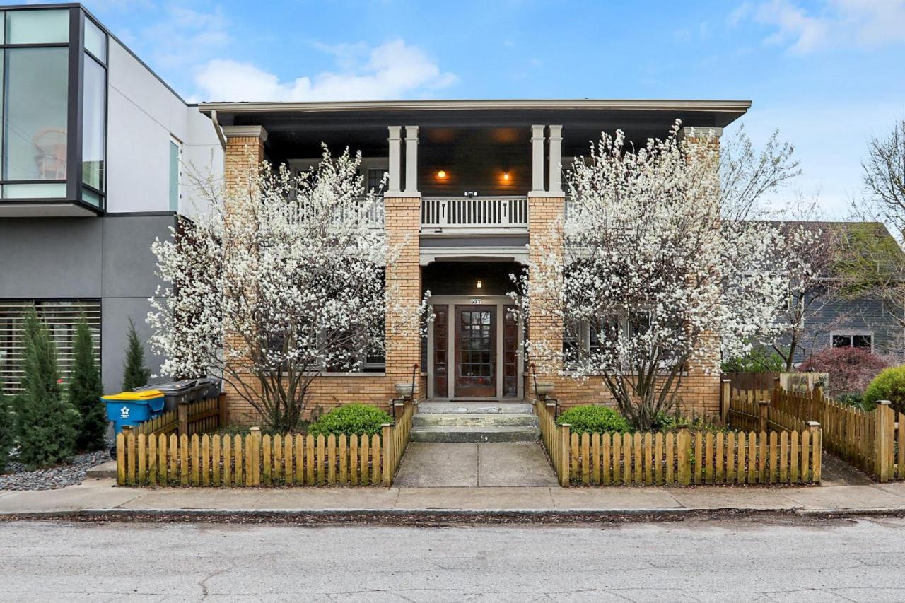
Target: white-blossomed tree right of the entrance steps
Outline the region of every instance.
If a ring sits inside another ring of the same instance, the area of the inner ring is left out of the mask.
[[[721,215],[719,144],[679,129],[638,149],[603,134],[568,170],[567,215],[519,279],[523,311],[564,326],[558,349],[530,333],[531,361],[599,376],[639,429],[676,407],[690,367],[769,340],[787,291],[776,226]]]

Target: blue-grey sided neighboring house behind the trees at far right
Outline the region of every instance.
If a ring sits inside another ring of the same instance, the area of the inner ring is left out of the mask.
[[[841,245],[841,251],[853,248],[851,234],[857,232],[859,236],[868,236],[874,240],[885,239],[889,249],[900,254],[899,245],[881,223],[802,224],[832,233],[834,244]],[[828,282],[836,280],[834,275],[828,275]],[[834,291],[832,285],[830,291]],[[905,330],[902,328],[902,322],[896,320],[893,314],[902,316],[903,311],[905,309],[884,307],[882,300],[876,296],[851,296],[834,292],[815,302],[812,310],[805,314],[803,335],[795,353],[795,363],[804,361],[815,351],[827,348],[870,349],[877,354],[901,359],[905,352]]]

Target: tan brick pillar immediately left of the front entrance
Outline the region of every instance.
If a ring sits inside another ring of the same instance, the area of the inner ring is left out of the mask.
[[[386,242],[397,257],[386,267],[386,286],[395,290],[392,303],[414,310],[421,302],[421,265],[418,254],[418,230],[421,225],[421,196],[386,196]],[[404,311],[405,311],[404,310]],[[421,362],[421,334],[418,324],[405,321],[393,309],[386,316],[386,379],[391,384],[408,383],[412,365]],[[419,373],[422,368],[419,367]],[[420,389],[421,379],[414,385]],[[416,391],[415,399],[424,391]]]

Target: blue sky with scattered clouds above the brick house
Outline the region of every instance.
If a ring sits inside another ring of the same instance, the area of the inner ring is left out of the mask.
[[[831,216],[867,140],[905,119],[905,0],[87,0],[189,100],[653,98],[754,102]]]

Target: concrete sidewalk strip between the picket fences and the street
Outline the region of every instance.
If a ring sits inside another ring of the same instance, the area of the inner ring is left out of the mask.
[[[905,483],[802,488],[144,488],[94,479],[61,490],[0,492],[0,515],[120,512],[905,512]]]

